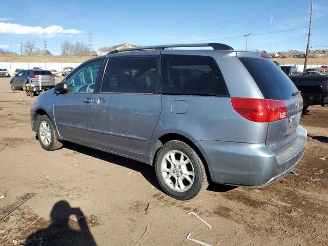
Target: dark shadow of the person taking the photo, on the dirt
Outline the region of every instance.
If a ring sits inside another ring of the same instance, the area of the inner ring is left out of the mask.
[[[70,215],[76,216],[79,230],[72,230],[69,227]],[[67,201],[58,201],[54,204],[50,217],[50,226],[30,234],[25,245],[97,245],[79,208],[71,208]]]

